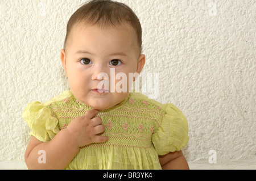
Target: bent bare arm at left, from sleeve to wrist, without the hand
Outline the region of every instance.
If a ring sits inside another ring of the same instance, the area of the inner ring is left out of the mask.
[[[38,162],[39,150],[45,151],[46,163]],[[41,142],[32,136],[26,149],[25,162],[28,169],[65,169],[79,150],[68,130],[63,129],[47,142]]]

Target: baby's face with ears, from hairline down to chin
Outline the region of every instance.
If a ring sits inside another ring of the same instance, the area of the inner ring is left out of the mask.
[[[73,95],[97,110],[106,110],[122,102],[129,94],[129,80],[125,85],[127,90],[117,92],[115,88],[120,87],[121,80],[113,78],[113,75],[124,73],[129,78],[129,73],[141,73],[145,58],[138,51],[136,37],[130,26],[74,28],[67,48],[61,50],[61,61]],[[99,87],[105,91],[100,90],[100,93]]]

